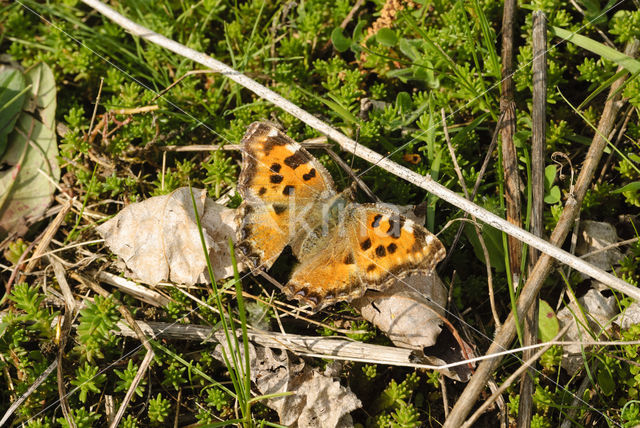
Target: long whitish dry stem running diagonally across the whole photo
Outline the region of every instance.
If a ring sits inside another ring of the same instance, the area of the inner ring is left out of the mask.
[[[460,197],[455,192],[436,183],[431,179],[431,177],[417,174],[416,172],[396,164],[395,162],[374,152],[373,150],[357,144],[355,141],[348,138],[338,130],[322,122],[320,119],[302,110],[292,102],[264,87],[263,85],[260,85],[244,74],[235,71],[233,68],[227,66],[226,64],[217,61],[207,55],[204,55],[201,52],[187,48],[186,46],[176,43],[173,40],[167,39],[160,34],[154,33],[153,31],[140,26],[129,19],[126,19],[125,17],[114,11],[112,8],[105,5],[104,3],[101,3],[98,0],[82,1],[83,3],[89,5],[90,7],[93,7],[98,12],[105,15],[107,18],[113,20],[118,25],[131,32],[133,35],[141,37],[151,43],[160,45],[185,58],[191,59],[194,62],[202,64],[223,74],[228,79],[231,79],[234,82],[251,90],[258,96],[277,105],[282,110],[286,111],[292,116],[295,116],[310,127],[316,129],[317,131],[326,135],[328,138],[334,140],[349,153],[352,153],[374,165],[380,166],[384,170],[389,171],[397,177],[444,199],[445,201],[462,209],[463,211],[469,212],[470,214],[476,216],[478,219],[489,224],[490,226],[495,227],[496,229],[501,230],[517,238],[518,240],[529,244],[532,247],[538,248],[543,253],[551,255],[558,261],[571,266],[572,268],[584,273],[585,275],[597,279],[598,281],[610,286],[615,290],[620,291],[621,293],[640,300],[640,290],[636,287],[630,286],[625,281],[622,281],[621,279],[614,277],[613,275],[603,271],[602,269],[599,269],[591,265],[590,263],[587,263],[584,260],[581,260],[578,257],[575,257],[572,254],[561,250],[557,246],[554,246],[549,242],[540,239],[525,230],[522,230],[519,227],[515,227],[508,221],[505,221],[497,215],[483,208],[480,208],[479,206],[466,200],[465,198]]]

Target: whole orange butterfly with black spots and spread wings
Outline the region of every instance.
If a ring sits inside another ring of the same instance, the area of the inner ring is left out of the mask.
[[[283,288],[289,299],[319,310],[444,258],[438,238],[397,210],[338,193],[324,166],[274,124],[251,124],[241,145],[237,248],[252,269],[267,270],[290,246],[299,264]]]

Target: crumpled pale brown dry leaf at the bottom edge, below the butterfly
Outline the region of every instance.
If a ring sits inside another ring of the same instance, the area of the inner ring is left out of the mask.
[[[229,348],[222,332],[216,333],[216,338],[221,344],[213,356],[223,361],[222,349],[229,355]],[[281,424],[299,428],[353,426],[350,413],[362,404],[349,388],[287,351],[249,344],[249,356],[251,380],[261,394],[292,393],[263,401],[278,413]]]

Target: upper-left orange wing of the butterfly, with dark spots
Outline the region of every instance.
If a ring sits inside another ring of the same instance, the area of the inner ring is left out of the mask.
[[[242,149],[238,249],[254,268],[268,269],[312,204],[336,192],[320,162],[274,125],[251,124]]]

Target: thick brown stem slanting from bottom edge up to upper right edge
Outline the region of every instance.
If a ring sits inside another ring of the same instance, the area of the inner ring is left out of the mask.
[[[631,57],[634,57],[637,49],[638,42],[634,41],[633,43],[628,44],[627,48],[625,49],[625,53]],[[580,205],[582,204],[584,195],[589,188],[591,180],[593,179],[593,176],[595,174],[595,170],[598,167],[600,158],[602,157],[602,152],[607,145],[607,141],[602,137],[602,135],[609,134],[609,132],[613,128],[616,115],[620,109],[619,95],[617,94],[617,92],[622,86],[624,80],[625,79],[623,76],[611,85],[611,89],[609,90],[609,97],[607,98],[607,102],[605,103],[604,110],[598,124],[598,132],[596,132],[596,134],[594,135],[593,141],[589,146],[589,151],[587,152],[584,165],[582,167],[582,170],[580,171],[580,175],[578,176],[578,180],[575,185],[575,193],[569,196],[562,215],[558,220],[558,224],[551,234],[552,244],[562,245],[569,231],[571,230],[574,219],[580,212]],[[542,287],[542,283],[549,274],[552,266],[553,260],[549,255],[544,254],[540,257],[540,259],[538,259],[538,262],[530,273],[527,283],[520,293],[520,298],[518,299],[517,305],[519,315],[524,315],[525,311],[531,305],[531,302],[536,299],[538,292]],[[511,340],[513,340],[515,331],[515,321],[513,313],[511,313],[507,318],[507,321],[496,332],[495,340],[489,347],[487,354],[506,349],[506,347],[509,346],[509,343],[511,343]],[[471,410],[471,407],[475,404],[478,395],[484,389],[484,386],[487,383],[487,379],[489,379],[491,373],[495,370],[495,368],[498,367],[500,361],[501,358],[494,358],[484,361],[478,366],[476,373],[473,375],[464,391],[460,395],[458,401],[453,407],[453,410],[451,411],[451,414],[449,415],[449,418],[447,418],[447,420],[445,421],[443,428],[457,428],[462,424],[465,417]]]

